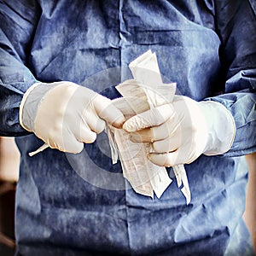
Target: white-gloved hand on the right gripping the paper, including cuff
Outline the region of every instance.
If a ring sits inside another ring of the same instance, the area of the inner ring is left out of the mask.
[[[189,164],[201,154],[223,154],[235,137],[235,121],[218,102],[195,102],[174,96],[173,102],[128,119],[123,125],[134,143],[152,143],[149,160],[159,166]]]

